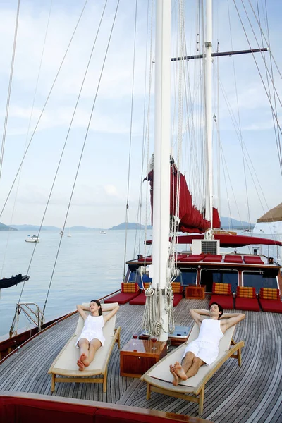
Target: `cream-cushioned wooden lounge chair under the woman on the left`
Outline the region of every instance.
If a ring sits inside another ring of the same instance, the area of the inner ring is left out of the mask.
[[[113,305],[118,305],[118,303],[116,302]],[[105,306],[105,308],[108,307],[109,305]],[[103,314],[107,313],[108,312],[106,311],[103,312]],[[104,337],[106,338],[103,347],[97,350],[94,360],[90,363],[90,366],[85,367],[85,370],[80,372],[80,370],[78,370],[78,365],[76,364],[78,358],[80,357],[80,350],[75,347],[75,343],[78,336],[80,336],[83,325],[84,321],[82,317],[79,316],[75,334],[71,337],[68,343],[66,343],[59,355],[57,355],[56,359],[51,364],[48,371],[48,373],[52,375],[51,392],[54,392],[56,382],[103,384],[103,392],[106,392],[108,362],[111,357],[111,351],[113,350],[116,342],[118,343],[118,348],[120,348],[121,327],[115,329],[116,314],[114,314],[114,316],[106,322],[103,328]],[[56,375],[65,377],[56,377]],[[93,377],[98,375],[102,375],[102,377]]]

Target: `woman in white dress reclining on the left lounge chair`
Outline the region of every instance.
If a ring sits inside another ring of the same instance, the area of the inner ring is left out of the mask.
[[[76,347],[80,348],[80,357],[77,364],[79,370],[82,371],[89,366],[94,360],[97,350],[104,345],[105,338],[102,328],[106,321],[116,314],[119,305],[114,306],[112,309],[107,307],[107,311],[110,311],[110,313],[106,314],[106,316],[103,316],[102,307],[98,300],[91,300],[89,307],[77,305],[76,308],[84,320],[82,332],[75,344]],[[90,314],[86,314],[86,311],[90,312]]]

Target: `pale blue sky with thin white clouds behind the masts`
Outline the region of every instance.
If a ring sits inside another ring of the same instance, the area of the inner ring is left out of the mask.
[[[152,3],[149,1],[148,8],[147,0],[137,1],[135,33],[135,1],[121,0],[118,4],[117,0],[108,0],[97,35],[105,3],[104,0],[88,0],[86,3],[85,0],[20,1],[11,95],[6,132],[4,132],[18,1],[0,1],[2,149],[3,140],[5,140],[0,178],[0,221],[2,223],[39,225],[42,222],[53,183],[54,188],[44,216],[44,225],[63,227],[67,219],[66,226],[83,225],[92,228],[116,226],[125,221],[127,198],[129,221],[137,221],[141,185],[142,223],[150,221],[149,205],[146,202],[149,193],[147,183],[143,183],[142,180],[146,176],[147,158],[154,149],[154,80],[149,90],[150,68],[152,67],[154,71],[154,17],[152,18],[152,47],[150,47],[150,31],[148,32],[148,28],[151,27]],[[197,20],[196,3],[192,0],[185,1],[187,54],[196,53],[197,28],[192,23]],[[280,1],[269,0],[266,3],[271,51],[278,68],[281,68]],[[114,21],[117,4],[118,10]],[[255,26],[257,23],[250,4],[257,12],[257,4],[264,7],[264,1],[256,0],[250,3],[243,1],[243,4],[247,8],[252,25]],[[85,9],[82,13],[84,5]],[[220,51],[250,48],[235,5],[243,13],[243,25],[247,36],[250,37],[252,48],[257,48],[257,42],[246,18],[242,2],[214,0],[214,51],[218,41]],[[171,54],[176,56],[178,39],[175,35],[176,1],[172,1],[172,8],[174,32]],[[66,54],[80,13],[82,13],[80,23]],[[261,9],[259,18],[262,21],[264,34],[267,35],[265,15],[265,8],[264,13]],[[109,42],[113,22],[114,27]],[[257,25],[255,34],[260,44],[261,35]],[[94,44],[95,37],[97,41]],[[105,59],[108,42],[109,49]],[[93,44],[92,59],[82,85]],[[63,61],[65,54],[66,59]],[[135,58],[134,67],[133,57]],[[259,67],[262,68],[262,77],[266,80],[262,56],[257,54],[256,59]],[[269,63],[269,57],[267,60]],[[61,69],[56,78],[60,66]],[[179,122],[178,114],[173,111],[174,104],[176,100],[178,101],[173,88],[177,66],[175,63],[172,64],[172,140],[176,139],[175,128]],[[197,81],[199,81],[199,75],[195,74],[197,65],[190,61],[185,65],[185,69],[187,72],[185,78],[189,78],[190,90],[194,90],[192,97],[194,94],[197,97]],[[274,64],[273,71],[276,90],[281,95],[281,77]],[[214,75],[216,72],[217,61],[214,61]],[[221,216],[231,214],[234,219],[244,221],[250,219],[251,222],[255,222],[269,208],[281,202],[281,171],[271,109],[251,55],[221,58],[219,75],[220,118],[217,116],[218,111],[215,106],[213,114],[216,114],[216,121],[219,121],[224,163],[224,165],[221,164],[219,177],[220,213]],[[186,86],[188,86],[187,81]],[[54,85],[53,88],[52,85]],[[216,92],[216,83],[214,85]],[[81,94],[78,100],[80,89]],[[72,121],[77,102],[78,106]],[[203,125],[201,118],[197,117],[198,109],[200,115],[197,100],[194,108],[196,114],[194,131],[196,135],[199,135],[202,133]],[[239,135],[236,134],[229,109],[232,109],[237,122],[240,116]],[[278,101],[277,111],[278,118],[281,118],[281,106]],[[199,157],[195,159],[191,154],[193,142],[196,145],[195,149],[198,148],[197,137],[191,142],[188,140],[190,134],[187,135],[184,130],[188,125],[185,121],[188,116],[190,117],[190,111],[189,113],[184,111],[181,130],[183,133],[181,149],[184,158],[181,159],[180,168],[186,174],[188,185],[191,186],[192,195],[196,201],[200,197],[198,186],[202,172]],[[148,128],[148,137],[144,136],[144,128]],[[217,135],[214,132],[214,145],[216,145],[216,138]],[[142,164],[144,139],[145,160]],[[185,144],[186,141],[187,144]],[[65,142],[66,147],[56,175]],[[245,154],[249,154],[250,157],[245,161],[245,172],[240,147],[242,142],[247,148]],[[29,144],[23,160],[23,154]],[[82,153],[83,145],[85,146]],[[178,156],[176,147],[176,142],[173,142],[173,154]],[[214,154],[214,168],[217,171],[216,157],[217,153]],[[23,166],[18,172],[22,160]],[[128,170],[129,162],[130,171]],[[199,175],[195,176],[197,170]],[[11,190],[15,178],[16,183]],[[256,180],[256,184],[253,180]],[[219,202],[216,187],[217,180],[214,177],[214,200]],[[6,202],[10,190],[11,195]],[[71,195],[72,200],[68,207]]]

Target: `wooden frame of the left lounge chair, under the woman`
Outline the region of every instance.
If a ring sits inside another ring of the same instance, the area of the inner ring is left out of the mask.
[[[117,303],[116,303],[117,305]],[[112,317],[111,319],[114,319],[115,321],[116,315]],[[82,317],[79,317],[79,320],[82,320]],[[108,324],[106,322],[106,324]],[[81,326],[81,324],[80,324]],[[106,325],[105,325],[106,326]],[[103,392],[106,392],[106,379],[108,374],[108,363],[109,359],[111,357],[111,352],[114,348],[115,343],[118,343],[118,348],[121,348],[120,345],[120,333],[121,333],[121,326],[118,326],[118,328],[114,329],[114,334],[111,335],[111,343],[109,345],[108,350],[106,351],[106,355],[104,357],[104,362],[102,364],[102,367],[99,369],[85,369],[82,372],[79,370],[71,370],[71,369],[61,369],[59,367],[56,367],[56,363],[58,362],[59,358],[63,355],[65,350],[70,348],[75,348],[75,341],[78,338],[78,331],[74,333],[74,335],[69,339],[69,341],[66,343],[66,345],[63,347],[59,355],[55,358],[54,362],[51,364],[51,367],[49,368],[48,373],[51,374],[51,392],[54,392],[55,390],[55,384],[56,382],[80,382],[83,384],[103,384]],[[73,344],[73,346],[70,346]],[[95,359],[94,359],[95,360]],[[93,360],[93,362],[94,362]],[[90,364],[91,365],[91,364]],[[63,377],[56,377],[56,375],[63,376]],[[102,377],[96,377],[101,375]],[[90,377],[87,377],[90,376]],[[93,377],[95,376],[95,377]]]

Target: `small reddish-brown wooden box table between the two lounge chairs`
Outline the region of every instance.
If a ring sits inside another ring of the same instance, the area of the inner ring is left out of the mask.
[[[133,342],[137,345],[133,345]],[[152,350],[155,346],[157,349]],[[120,352],[121,376],[141,377],[166,355],[166,342],[130,339]]]

